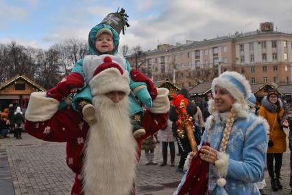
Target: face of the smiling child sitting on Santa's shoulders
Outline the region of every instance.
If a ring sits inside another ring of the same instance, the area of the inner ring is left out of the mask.
[[[114,41],[112,40],[112,36],[107,33],[100,34],[95,40],[95,47],[102,54],[112,51],[112,49],[114,49]]]

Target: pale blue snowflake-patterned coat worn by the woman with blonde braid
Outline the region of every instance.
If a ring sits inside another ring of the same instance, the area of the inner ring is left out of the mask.
[[[226,161],[227,169],[225,172],[220,173],[226,179],[226,185],[224,187],[217,185],[219,172],[215,165],[210,165],[208,182],[210,194],[260,194],[256,182],[263,179],[269,125],[262,117],[257,117],[247,111],[241,111],[241,113],[241,116],[236,117],[234,120],[230,131],[225,151],[228,154],[228,160]],[[215,113],[208,117],[205,124],[206,130],[202,136],[202,143],[207,141],[206,137],[210,121],[214,119],[214,124],[209,131],[208,142],[212,148],[217,151],[220,150],[228,115],[229,113],[219,114],[215,111]]]

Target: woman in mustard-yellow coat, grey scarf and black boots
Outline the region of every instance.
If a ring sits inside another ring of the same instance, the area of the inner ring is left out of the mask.
[[[267,168],[271,178],[273,191],[282,189],[280,183],[280,170],[282,166],[283,153],[286,151],[286,133],[280,125],[280,119],[284,115],[282,101],[276,91],[270,90],[268,95],[262,100],[262,106],[258,110],[258,115],[263,116],[269,123],[269,147],[267,149]],[[273,143],[273,144],[271,144]],[[273,165],[275,159],[275,165]],[[276,177],[274,175],[276,173]]]

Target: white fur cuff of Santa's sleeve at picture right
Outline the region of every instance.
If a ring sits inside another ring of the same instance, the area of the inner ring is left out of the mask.
[[[147,110],[154,114],[167,113],[169,111],[169,90],[166,88],[158,88],[158,95],[155,100],[153,100],[152,107],[147,107]]]

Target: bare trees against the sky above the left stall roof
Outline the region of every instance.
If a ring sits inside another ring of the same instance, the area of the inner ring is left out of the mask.
[[[25,47],[14,41],[0,43],[0,84],[17,74],[25,74],[40,86],[50,89],[87,54],[88,43],[79,38],[67,38],[47,50]]]

